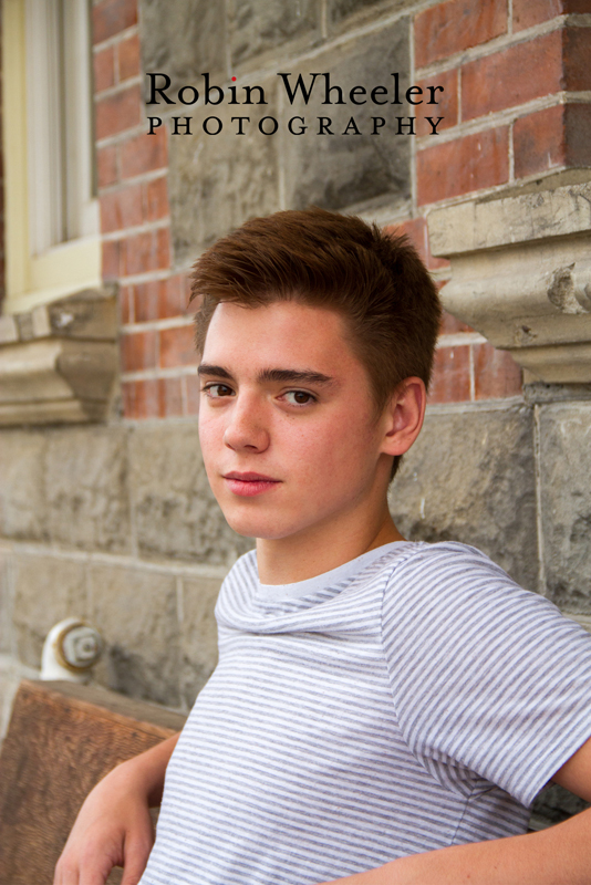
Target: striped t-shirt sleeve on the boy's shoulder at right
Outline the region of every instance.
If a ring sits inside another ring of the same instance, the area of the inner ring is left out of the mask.
[[[429,770],[469,770],[529,805],[591,736],[591,636],[474,548],[425,544],[393,570],[382,641]]]

